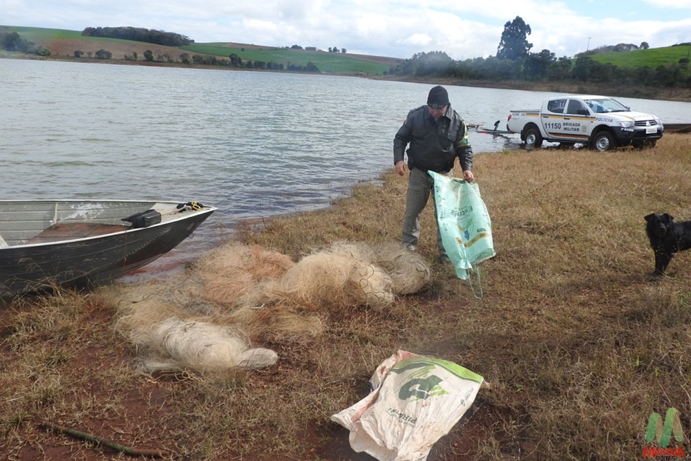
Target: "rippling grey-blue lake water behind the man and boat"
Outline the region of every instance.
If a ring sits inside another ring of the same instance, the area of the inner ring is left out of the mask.
[[[0,197],[217,206],[196,243],[181,245],[196,251],[238,220],[325,207],[377,178],[393,166],[393,137],[431,86],[0,59]],[[501,120],[500,129],[509,109],[555,94],[446,88],[466,122]],[[691,103],[618,99],[663,122],[691,122]],[[477,154],[518,149],[520,140],[471,131],[471,143]]]

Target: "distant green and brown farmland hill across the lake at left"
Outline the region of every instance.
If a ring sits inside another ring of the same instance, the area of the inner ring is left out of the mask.
[[[404,59],[355,55],[352,53],[330,53],[323,50],[300,50],[294,48],[280,48],[275,46],[258,46],[254,44],[238,43],[208,43],[191,44],[183,47],[160,46],[122,39],[107,39],[101,37],[84,37],[79,30],[48,29],[20,26],[0,26],[0,31],[17,32],[21,38],[50,50],[50,57],[74,58],[75,50],[95,53],[104,49],[112,53],[112,59],[133,60],[136,53],[138,62],[144,61],[144,52],[151,50],[156,60],[162,62],[179,62],[180,55],[207,55],[219,59],[229,59],[235,54],[243,61],[276,62],[287,67],[288,64],[306,66],[312,62],[323,73],[383,75],[392,66],[396,66]],[[159,59],[160,58],[160,59]],[[82,59],[82,58],[74,58]]]

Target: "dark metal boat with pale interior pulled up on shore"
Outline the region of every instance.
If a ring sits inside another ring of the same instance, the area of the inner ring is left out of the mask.
[[[107,283],[172,250],[215,210],[197,202],[0,200],[0,298]]]

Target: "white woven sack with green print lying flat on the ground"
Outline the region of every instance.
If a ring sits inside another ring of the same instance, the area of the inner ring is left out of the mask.
[[[483,378],[451,361],[399,350],[375,370],[372,392],[332,415],[350,446],[379,461],[425,461],[471,407]]]

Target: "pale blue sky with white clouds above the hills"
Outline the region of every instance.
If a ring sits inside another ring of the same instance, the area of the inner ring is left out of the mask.
[[[404,59],[432,51],[455,60],[494,56],[504,24],[517,16],[531,28],[531,52],[556,57],[691,41],[691,0],[0,0],[2,26],[132,26],[197,43],[345,48]]]

